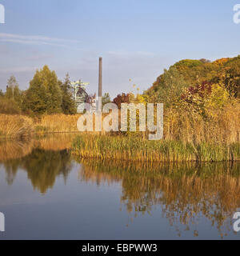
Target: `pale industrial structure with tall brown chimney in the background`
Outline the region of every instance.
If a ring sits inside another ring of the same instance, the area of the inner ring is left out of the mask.
[[[86,93],[86,86],[89,85],[89,82],[82,82],[81,80],[71,82],[73,97],[78,113],[83,113],[85,103],[90,103],[93,111],[97,108],[98,98],[96,97],[96,94],[89,95]],[[98,97],[102,97],[102,58],[99,58]]]

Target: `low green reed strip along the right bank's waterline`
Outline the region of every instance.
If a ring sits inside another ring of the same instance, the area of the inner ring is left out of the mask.
[[[181,141],[149,141],[137,136],[80,135],[74,139],[73,154],[81,158],[136,162],[218,162],[240,160],[240,144]]]

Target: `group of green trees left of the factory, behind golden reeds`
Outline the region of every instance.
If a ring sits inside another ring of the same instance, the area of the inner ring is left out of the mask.
[[[70,77],[60,81],[48,66],[37,70],[27,90],[20,90],[14,76],[7,81],[6,93],[0,91],[2,114],[76,114]]]

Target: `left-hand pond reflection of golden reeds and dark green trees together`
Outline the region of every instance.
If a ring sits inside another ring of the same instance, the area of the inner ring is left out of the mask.
[[[74,134],[57,134],[25,141],[7,141],[0,144],[0,163],[5,166],[6,181],[14,182],[21,167],[26,170],[34,188],[42,193],[54,186],[55,178],[64,178],[70,172],[70,148]]]

